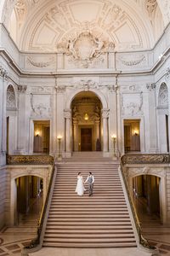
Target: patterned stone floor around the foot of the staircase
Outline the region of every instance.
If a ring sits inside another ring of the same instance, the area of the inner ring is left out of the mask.
[[[39,206],[38,206],[39,207]],[[170,256],[170,226],[163,226],[157,216],[150,216],[145,212],[142,201],[136,202],[139,212],[139,219],[142,223],[144,237],[150,244],[159,247],[160,255]],[[36,206],[34,204],[34,211]],[[31,212],[29,216],[24,216],[19,227],[6,227],[0,232],[0,256],[21,255],[21,249],[36,236],[37,216]],[[150,255],[137,248],[121,249],[66,249],[66,248],[42,248],[37,253],[30,253],[31,256],[146,256]]]

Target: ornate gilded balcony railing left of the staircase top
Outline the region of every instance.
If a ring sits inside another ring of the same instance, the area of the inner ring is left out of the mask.
[[[7,165],[53,165],[51,155],[7,155]]]

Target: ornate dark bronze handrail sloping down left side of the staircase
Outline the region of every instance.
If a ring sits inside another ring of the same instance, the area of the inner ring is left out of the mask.
[[[49,184],[48,184],[48,193],[47,193],[47,196],[46,196],[45,203],[42,207],[41,216],[40,216],[39,221],[38,221],[37,237],[35,239],[31,240],[30,244],[27,245],[26,247],[24,247],[24,250],[38,247],[41,243],[42,228],[43,228],[44,219],[46,217],[46,212],[47,212],[48,205],[49,205],[49,196],[52,194],[52,192],[53,192],[52,190],[53,190],[53,187],[54,187],[53,183],[54,183],[54,177],[55,177],[54,174],[55,174],[55,172],[56,172],[55,166],[53,166],[53,171],[52,171],[50,181],[49,181]]]

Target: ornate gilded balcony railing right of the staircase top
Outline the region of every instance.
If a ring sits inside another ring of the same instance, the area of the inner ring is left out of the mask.
[[[124,154],[122,165],[127,164],[167,164],[170,163],[169,154]]]

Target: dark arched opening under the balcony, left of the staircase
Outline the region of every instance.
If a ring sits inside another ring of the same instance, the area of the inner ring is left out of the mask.
[[[43,179],[22,176],[15,179],[16,207],[14,224],[36,222],[42,211]]]

